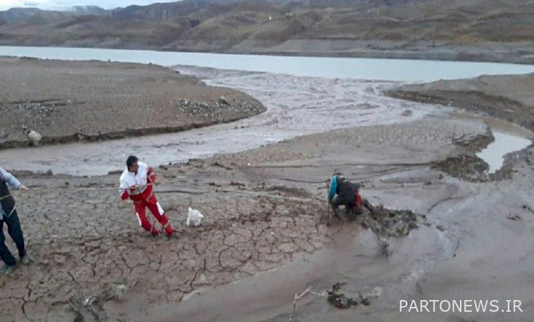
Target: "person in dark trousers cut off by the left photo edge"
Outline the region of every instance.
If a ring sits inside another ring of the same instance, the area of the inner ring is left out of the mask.
[[[24,236],[21,229],[21,222],[18,220],[18,214],[16,213],[15,199],[11,195],[8,186],[14,189],[28,190],[26,186],[18,182],[18,179],[14,175],[0,168],[0,258],[5,263],[0,269],[0,274],[3,275],[10,275],[18,264],[4,243],[4,223],[8,225],[8,233],[15,242],[16,249],[18,250],[18,258],[21,259],[21,263],[27,265],[31,262],[24,247]]]

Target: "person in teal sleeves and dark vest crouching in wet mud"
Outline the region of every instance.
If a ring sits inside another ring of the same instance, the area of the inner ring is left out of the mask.
[[[332,206],[336,216],[340,215],[340,206],[344,206],[347,213],[362,214],[367,208],[372,214],[374,207],[367,200],[359,195],[361,184],[353,184],[343,173],[334,173],[330,181],[327,181],[328,201]]]

